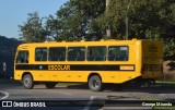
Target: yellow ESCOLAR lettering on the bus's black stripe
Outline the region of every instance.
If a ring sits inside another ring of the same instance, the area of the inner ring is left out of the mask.
[[[48,65],[48,70],[50,71],[69,71],[70,65]]]

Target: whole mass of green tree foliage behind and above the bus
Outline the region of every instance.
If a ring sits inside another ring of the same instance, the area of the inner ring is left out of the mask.
[[[106,10],[106,1],[109,5]],[[174,0],[70,0],[56,15],[39,17],[37,12],[28,13],[28,19],[19,25],[22,38],[27,42],[44,40],[97,40],[126,38],[128,16],[129,39],[162,39],[165,56],[175,54],[175,39],[166,36],[175,26]],[[175,34],[174,34],[175,35]]]

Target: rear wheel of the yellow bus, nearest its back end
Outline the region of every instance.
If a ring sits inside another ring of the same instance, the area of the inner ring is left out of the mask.
[[[103,84],[98,75],[93,75],[89,80],[89,87],[93,91],[103,90]]]

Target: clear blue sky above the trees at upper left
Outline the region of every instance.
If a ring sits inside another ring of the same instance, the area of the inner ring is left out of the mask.
[[[27,21],[28,13],[38,12],[40,17],[55,15],[69,0],[0,0],[0,35],[20,38],[19,25]]]

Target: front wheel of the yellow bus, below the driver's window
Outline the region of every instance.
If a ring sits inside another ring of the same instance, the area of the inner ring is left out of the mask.
[[[34,81],[31,74],[26,74],[23,76],[22,84],[24,88],[32,89],[34,87]]]

